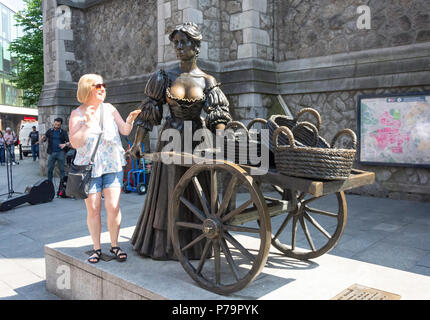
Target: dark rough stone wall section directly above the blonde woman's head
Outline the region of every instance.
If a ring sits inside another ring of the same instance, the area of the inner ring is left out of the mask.
[[[98,73],[111,80],[154,71],[156,3],[156,0],[111,0],[84,10],[84,36],[75,37],[75,43],[76,51],[83,53],[85,73]]]

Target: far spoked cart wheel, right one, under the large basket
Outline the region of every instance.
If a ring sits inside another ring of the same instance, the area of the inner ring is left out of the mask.
[[[275,189],[282,190],[279,187]],[[273,246],[287,257],[300,260],[313,259],[330,251],[346,226],[345,194],[337,192],[305,198],[305,193],[292,194],[284,190],[283,199],[290,200],[288,197],[297,199],[297,208],[289,211],[286,217],[279,217],[282,222],[273,227]]]

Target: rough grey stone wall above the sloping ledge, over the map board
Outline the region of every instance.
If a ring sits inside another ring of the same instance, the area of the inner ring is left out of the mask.
[[[430,40],[428,0],[277,0],[276,60],[410,45]],[[359,30],[368,5],[371,29]]]

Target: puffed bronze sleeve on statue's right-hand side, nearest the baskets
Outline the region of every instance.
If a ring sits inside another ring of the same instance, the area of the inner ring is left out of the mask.
[[[206,92],[205,102],[206,127],[215,132],[218,124],[227,124],[232,120],[229,110],[227,97],[219,88],[219,84],[215,84]]]

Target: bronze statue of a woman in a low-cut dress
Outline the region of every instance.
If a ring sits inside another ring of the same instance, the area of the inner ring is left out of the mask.
[[[159,133],[155,152],[161,151],[168,143],[160,139],[164,130],[177,129],[184,138],[185,121],[191,122],[193,133],[205,127],[215,133],[215,130],[224,129],[232,120],[229,103],[219,84],[214,77],[204,73],[197,66],[196,60],[202,40],[197,25],[191,22],[184,23],[169,35],[169,39],[175,47],[180,64],[171,70],[159,70],[148,80],[142,111],[135,121],[138,129],[130,151],[135,157],[140,156],[139,146],[145,133],[152,130],[154,125],[161,124],[164,103],[169,106],[170,115],[166,117]],[[205,119],[201,116],[202,110],[207,114]],[[192,147],[194,150],[196,142],[192,143]],[[131,243],[139,254],[160,260],[176,259],[168,233],[169,195],[173,193],[186,169],[162,162],[153,164],[148,194],[131,238]],[[201,178],[202,187],[209,190],[209,183],[206,180],[205,177]],[[190,189],[189,192],[195,190]],[[188,199],[196,199],[196,205],[200,205],[197,195],[191,195]],[[181,214],[186,219],[194,221],[195,216],[191,212],[187,212],[185,208],[181,210],[184,211]],[[198,235],[187,230],[180,237],[190,242]],[[197,244],[188,249],[184,255],[189,259],[200,259],[202,250],[203,246]]]

